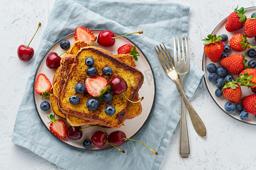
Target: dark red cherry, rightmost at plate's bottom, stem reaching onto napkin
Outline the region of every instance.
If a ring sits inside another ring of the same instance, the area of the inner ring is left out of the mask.
[[[114,146],[121,146],[123,145],[123,142],[125,142],[127,140],[130,141],[135,141],[135,142],[139,142],[135,139],[130,139],[130,138],[126,138],[126,135],[123,131],[117,130],[117,131],[113,131],[112,133],[109,134],[108,136],[108,142],[111,143]],[[139,142],[142,145],[144,145],[144,143]],[[158,152],[152,150],[151,148],[149,148],[148,146],[144,145],[145,147],[147,147],[153,154],[158,155]]]

